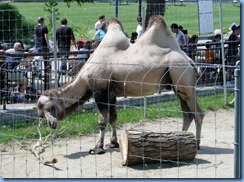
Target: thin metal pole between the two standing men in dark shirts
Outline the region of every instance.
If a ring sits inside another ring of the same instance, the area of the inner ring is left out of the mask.
[[[54,75],[55,75],[55,89],[58,88],[57,77],[57,42],[56,42],[56,14],[55,9],[52,9],[52,24],[53,24],[53,59],[54,59]]]

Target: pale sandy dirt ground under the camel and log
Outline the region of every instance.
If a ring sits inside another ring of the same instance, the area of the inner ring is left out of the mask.
[[[141,122],[123,129],[154,132],[181,130],[182,119]],[[193,123],[189,131],[195,133]],[[121,130],[118,131],[120,137]],[[109,142],[107,132],[105,144]],[[1,146],[0,177],[2,178],[233,178],[234,176],[234,110],[207,112],[202,130],[201,149],[192,162],[154,163],[123,166],[119,149],[103,155],[89,155],[98,135],[78,139],[55,140],[40,155],[44,160],[56,158],[54,165],[43,165],[18,144]],[[50,142],[51,143],[51,142]],[[4,150],[3,150],[4,148]]]

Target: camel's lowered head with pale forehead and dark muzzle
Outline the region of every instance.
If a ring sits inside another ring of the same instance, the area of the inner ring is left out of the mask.
[[[52,129],[56,129],[59,121],[65,117],[62,105],[62,99],[58,99],[51,93],[44,93],[40,96],[36,105],[38,116],[45,118],[47,124]]]

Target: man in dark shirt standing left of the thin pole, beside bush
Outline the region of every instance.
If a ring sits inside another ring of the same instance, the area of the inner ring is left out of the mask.
[[[48,53],[50,49],[48,28],[44,26],[44,18],[38,17],[38,24],[34,28],[35,35],[35,50],[33,52]],[[48,56],[44,55],[44,89],[50,89],[50,75],[51,75],[51,63],[48,61]]]

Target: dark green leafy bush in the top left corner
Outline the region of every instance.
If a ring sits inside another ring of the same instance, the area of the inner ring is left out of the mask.
[[[9,3],[0,3],[0,21],[0,40],[3,42],[23,41],[33,33],[18,9]]]

